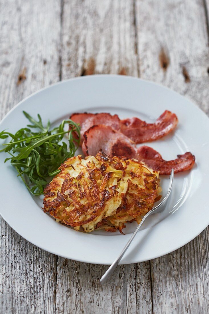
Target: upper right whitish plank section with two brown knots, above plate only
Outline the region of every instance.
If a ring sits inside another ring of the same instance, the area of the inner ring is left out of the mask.
[[[202,0],[136,0],[140,76],[209,113],[208,32]]]

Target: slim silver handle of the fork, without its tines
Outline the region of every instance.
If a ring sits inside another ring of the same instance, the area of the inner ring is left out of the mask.
[[[137,229],[134,231],[134,233],[132,234],[131,238],[129,239],[129,241],[126,243],[126,246],[123,248],[121,254],[119,255],[119,257],[117,257],[115,259],[115,261],[112,263],[112,265],[108,268],[108,270],[104,273],[104,275],[102,276],[102,278],[99,280],[100,284],[103,284],[109,277],[110,275],[114,272],[115,268],[117,267],[118,263],[120,262],[121,258],[123,257],[124,253],[126,252],[126,250],[128,249],[128,247],[130,246],[133,238],[136,236],[137,232],[139,231],[139,228],[141,227],[141,225],[143,224],[144,220],[149,216],[149,214],[151,214],[152,212],[149,211],[143,218],[142,221],[140,222],[140,224],[138,225]]]

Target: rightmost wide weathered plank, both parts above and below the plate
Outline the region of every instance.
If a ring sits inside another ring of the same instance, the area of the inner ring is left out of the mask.
[[[203,1],[136,0],[142,78],[189,97],[209,114],[209,48]],[[208,313],[208,228],[151,261],[154,313]]]

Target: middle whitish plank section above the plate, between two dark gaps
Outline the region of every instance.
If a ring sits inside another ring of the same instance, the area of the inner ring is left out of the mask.
[[[64,0],[62,78],[137,76],[133,1]]]

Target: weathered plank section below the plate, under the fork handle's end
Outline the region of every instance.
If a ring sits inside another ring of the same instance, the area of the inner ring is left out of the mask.
[[[119,266],[100,285],[107,268],[58,257],[58,313],[152,313],[149,262]]]

